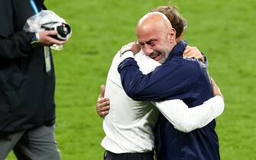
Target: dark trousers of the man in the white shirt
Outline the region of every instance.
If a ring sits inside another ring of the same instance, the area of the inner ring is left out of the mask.
[[[154,152],[115,154],[106,151],[104,160],[154,160]]]

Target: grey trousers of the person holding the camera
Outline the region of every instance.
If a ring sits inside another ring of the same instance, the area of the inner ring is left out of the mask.
[[[0,133],[0,160],[14,151],[18,160],[60,160],[54,126],[40,126],[16,133]]]

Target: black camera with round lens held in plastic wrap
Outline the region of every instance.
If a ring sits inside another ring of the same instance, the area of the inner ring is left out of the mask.
[[[49,22],[47,24],[42,24],[41,28],[44,28],[44,30],[57,30],[58,34],[54,38],[58,40],[68,40],[72,34],[70,25],[63,22]]]

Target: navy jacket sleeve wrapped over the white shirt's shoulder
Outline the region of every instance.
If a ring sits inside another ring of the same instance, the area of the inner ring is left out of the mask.
[[[128,58],[118,66],[125,93],[135,101],[164,101],[190,97],[191,88],[199,78],[198,66],[179,59],[158,66],[143,75],[137,62]]]

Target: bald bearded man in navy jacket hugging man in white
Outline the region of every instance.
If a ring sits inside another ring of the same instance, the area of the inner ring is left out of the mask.
[[[118,66],[125,93],[134,101],[181,99],[189,107],[213,97],[206,66],[197,59],[183,59],[186,43],[175,40],[170,21],[159,12],[144,15],[138,22],[138,43],[144,53],[162,65],[144,75],[134,60],[138,49],[125,52]],[[219,140],[215,120],[206,126],[183,133],[160,115],[157,126],[157,158],[160,160],[218,160]]]

